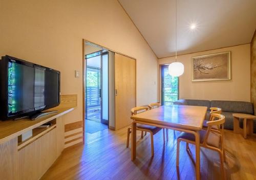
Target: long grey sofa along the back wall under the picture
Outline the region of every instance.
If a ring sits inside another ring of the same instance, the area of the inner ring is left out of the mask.
[[[244,113],[253,115],[253,104],[244,101],[208,101],[208,100],[193,100],[193,99],[180,99],[174,104],[178,105],[191,105],[191,106],[206,106],[207,116],[209,119],[210,107],[220,107],[222,109],[222,115],[225,116],[226,122],[224,124],[225,129],[233,129],[233,113]],[[242,121],[240,123],[242,127]],[[254,132],[256,132],[256,121],[253,123]]]

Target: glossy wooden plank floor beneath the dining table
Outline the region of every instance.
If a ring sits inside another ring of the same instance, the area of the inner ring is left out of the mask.
[[[180,166],[176,168],[176,139],[169,130],[163,144],[162,132],[154,136],[155,156],[151,158],[150,136],[137,140],[137,159],[131,161],[131,145],[126,148],[126,128],[105,129],[87,134],[86,145],[65,149],[41,179],[195,179],[193,157],[180,147]],[[176,132],[178,135],[179,132]],[[225,131],[226,174],[228,179],[256,179],[256,138],[244,140],[240,134]],[[192,159],[191,159],[192,158]],[[221,179],[219,155],[201,148],[201,179]]]

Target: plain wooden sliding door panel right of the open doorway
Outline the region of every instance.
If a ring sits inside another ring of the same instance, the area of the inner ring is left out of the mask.
[[[115,53],[115,130],[132,123],[136,107],[136,60]]]

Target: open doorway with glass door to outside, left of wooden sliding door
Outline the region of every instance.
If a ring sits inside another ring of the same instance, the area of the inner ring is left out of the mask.
[[[86,132],[95,133],[109,126],[109,52],[100,50],[85,55]]]

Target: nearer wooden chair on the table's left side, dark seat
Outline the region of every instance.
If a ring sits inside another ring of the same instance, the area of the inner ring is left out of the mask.
[[[146,111],[148,110],[148,107],[134,107],[131,109],[132,116],[137,115],[138,112]],[[151,134],[151,155],[154,156],[154,138],[153,136],[159,132],[162,128],[156,127],[156,126],[150,126],[145,124],[137,124],[137,130],[141,131],[141,138],[143,138],[143,132],[149,132]],[[130,140],[130,133],[132,132],[132,127],[129,127],[127,129],[127,141],[126,141],[126,147],[129,147],[129,140]],[[163,138],[163,141],[165,142],[165,137]]]

